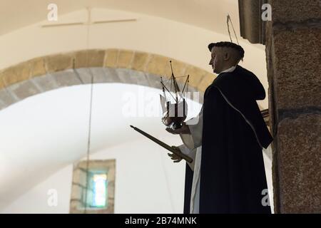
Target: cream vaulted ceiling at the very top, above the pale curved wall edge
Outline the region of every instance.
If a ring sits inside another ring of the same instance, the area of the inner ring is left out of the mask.
[[[44,21],[51,3],[57,4],[59,15],[91,6],[158,16],[218,33],[226,33],[229,13],[239,31],[236,0],[1,0],[0,35]]]

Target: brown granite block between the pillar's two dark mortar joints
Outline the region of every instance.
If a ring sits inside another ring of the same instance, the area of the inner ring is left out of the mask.
[[[321,107],[321,28],[280,31],[273,37],[277,109]]]

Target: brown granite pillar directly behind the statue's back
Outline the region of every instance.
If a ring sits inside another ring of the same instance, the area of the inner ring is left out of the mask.
[[[321,212],[321,1],[270,0],[266,27],[276,213]]]

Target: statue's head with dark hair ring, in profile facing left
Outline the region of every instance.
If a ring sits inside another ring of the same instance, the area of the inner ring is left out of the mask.
[[[220,73],[238,65],[244,57],[244,49],[238,44],[228,41],[210,43],[208,49],[211,53],[209,64],[212,66],[214,73]]]

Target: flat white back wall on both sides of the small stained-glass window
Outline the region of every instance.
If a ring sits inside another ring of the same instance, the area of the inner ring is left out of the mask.
[[[162,139],[170,145],[180,143],[175,136]],[[183,212],[185,163],[171,162],[162,147],[142,137],[96,152],[91,159],[116,159],[115,213]],[[63,167],[1,213],[68,213],[72,168]],[[58,192],[56,207],[48,204],[51,189]]]

